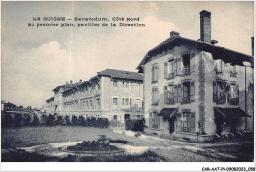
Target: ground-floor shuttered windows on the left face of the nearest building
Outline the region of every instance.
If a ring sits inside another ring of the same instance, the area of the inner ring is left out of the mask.
[[[195,112],[190,112],[190,110],[184,111],[182,113],[176,113],[176,126],[175,127],[176,132],[186,132],[186,133],[195,133]],[[150,113],[150,126],[152,128],[160,129],[160,116],[158,116],[157,112]],[[162,117],[163,121],[169,122],[170,119],[167,119],[165,117]],[[173,118],[171,120],[174,120]]]

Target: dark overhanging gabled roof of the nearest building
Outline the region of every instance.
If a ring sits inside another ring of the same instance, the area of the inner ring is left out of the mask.
[[[236,65],[241,65],[241,66],[243,65],[243,62],[246,61],[246,62],[250,62],[253,65],[253,56],[250,56],[241,52],[237,52],[234,50],[230,50],[224,47],[205,43],[202,41],[195,41],[195,40],[187,39],[181,36],[173,36],[161,42],[158,46],[149,50],[136,69],[141,70],[142,65],[146,64],[150,60],[153,54],[161,52],[165,48],[171,45],[188,43],[188,42],[194,43],[196,47],[201,49],[202,51],[212,53],[214,59],[222,59],[226,63],[232,63]]]

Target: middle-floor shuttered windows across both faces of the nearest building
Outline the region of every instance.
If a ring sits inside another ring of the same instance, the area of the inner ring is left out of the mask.
[[[164,103],[189,103],[195,101],[195,82],[186,81],[182,84],[169,84],[163,86]],[[235,83],[228,83],[226,81],[213,82],[213,102],[217,104],[230,103],[231,105],[238,105],[239,103],[239,85]],[[152,104],[158,105],[159,91],[158,86],[152,87]]]

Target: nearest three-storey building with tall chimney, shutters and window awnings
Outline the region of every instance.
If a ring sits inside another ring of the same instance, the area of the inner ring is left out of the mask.
[[[242,110],[239,98],[244,85],[244,73],[239,72],[244,62],[253,65],[253,57],[216,43],[211,40],[211,13],[203,10],[198,41],[172,31],[170,38],[148,51],[137,69],[144,74],[149,128],[198,142],[215,134],[253,130],[247,119],[253,109]],[[253,83],[250,76],[248,80]]]

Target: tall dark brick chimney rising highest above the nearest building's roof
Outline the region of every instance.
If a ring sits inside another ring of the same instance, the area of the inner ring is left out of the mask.
[[[211,43],[211,13],[202,10],[200,13],[200,40]]]

